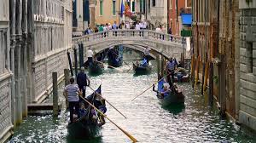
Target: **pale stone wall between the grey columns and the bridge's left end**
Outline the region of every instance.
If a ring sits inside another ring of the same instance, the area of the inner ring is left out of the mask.
[[[52,87],[52,72],[63,77],[72,46],[72,1],[34,1],[34,49],[32,49],[32,102],[42,102]],[[53,11],[52,9],[56,9]]]

